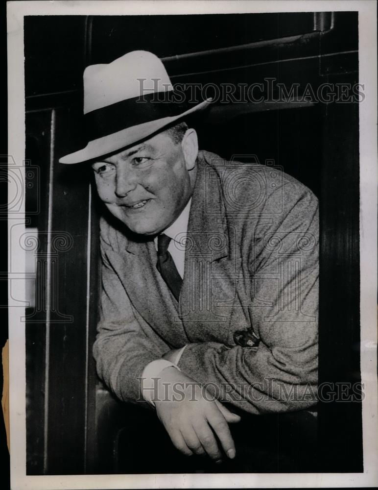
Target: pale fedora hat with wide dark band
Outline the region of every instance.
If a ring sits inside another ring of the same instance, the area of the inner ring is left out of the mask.
[[[184,94],[177,97],[162,61],[148,51],[90,65],[83,82],[88,144],[60,158],[60,163],[85,162],[131,146],[211,102],[183,102]]]

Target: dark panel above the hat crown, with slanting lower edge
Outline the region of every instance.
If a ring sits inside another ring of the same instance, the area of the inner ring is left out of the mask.
[[[91,22],[93,63],[109,63],[133,49],[145,49],[165,58],[204,50],[213,50],[216,55],[217,49],[301,35],[319,28],[314,25],[311,12],[93,16]],[[169,37],[164,32],[169,32]]]

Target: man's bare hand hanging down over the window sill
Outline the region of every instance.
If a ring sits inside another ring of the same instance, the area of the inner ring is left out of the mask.
[[[235,444],[228,423],[240,417],[230,412],[210,393],[176,368],[163,369],[159,380],[156,413],[174,446],[186,455],[208,454],[220,462],[222,452],[235,457]],[[214,435],[215,433],[215,435]]]

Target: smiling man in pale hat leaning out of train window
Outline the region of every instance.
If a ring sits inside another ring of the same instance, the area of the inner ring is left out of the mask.
[[[275,168],[199,151],[185,121],[209,101],[174,95],[152,53],[88,67],[89,143],[60,161],[91,162],[106,207],[99,376],[146,400],[183,454],[222,462],[247,414],[316,403],[317,200]]]

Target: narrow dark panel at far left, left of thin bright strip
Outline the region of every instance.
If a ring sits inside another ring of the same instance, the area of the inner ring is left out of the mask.
[[[49,199],[49,158],[51,110],[26,114],[25,157],[33,178],[26,186],[25,218],[38,229],[34,246],[37,272],[35,307],[26,308],[26,473],[42,474],[45,465],[46,389],[46,264]],[[37,245],[37,244],[36,244]]]

